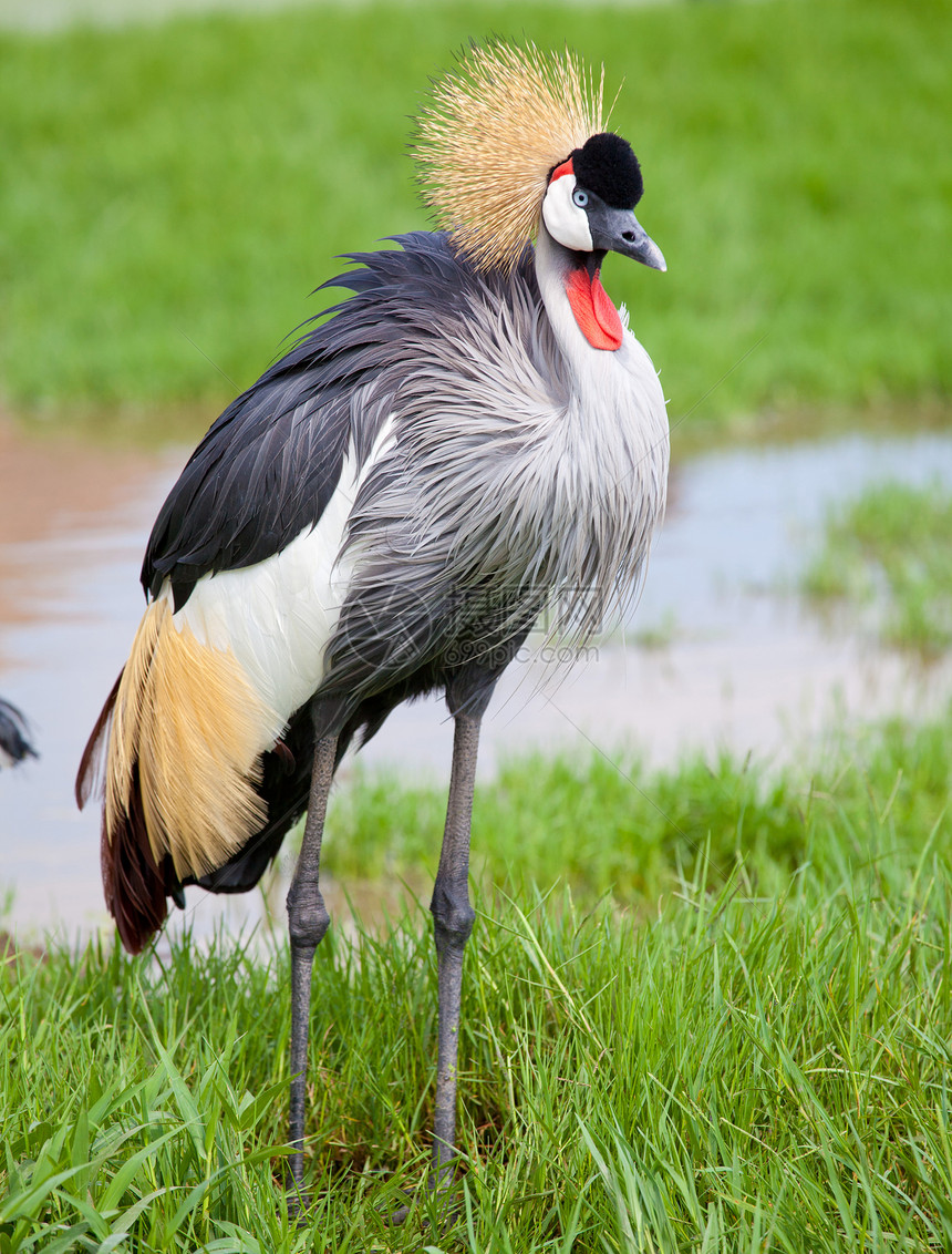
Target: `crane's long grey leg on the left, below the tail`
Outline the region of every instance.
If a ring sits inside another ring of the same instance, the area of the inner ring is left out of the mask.
[[[324,736],[317,741],[314,770],[311,776],[311,798],[307,808],[304,836],[301,841],[294,878],[288,890],[288,932],[291,933],[291,1132],[294,1146],[291,1155],[291,1175],[296,1196],[288,1201],[288,1210],[297,1214],[301,1201],[301,1181],[304,1172],[304,1087],[307,1082],[307,1037],[311,1022],[311,969],[314,951],[331,922],[321,897],[321,838],[327,814],[327,794],[334,772],[337,736]]]

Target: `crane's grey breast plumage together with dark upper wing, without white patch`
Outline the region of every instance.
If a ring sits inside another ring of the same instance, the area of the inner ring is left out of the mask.
[[[560,636],[591,636],[636,587],[665,503],[664,399],[633,337],[566,351],[575,329],[547,312],[531,248],[504,276],[441,233],[396,243],[353,255],[326,285],[353,295],[210,429],[143,566],[180,608],[197,578],[313,527],[344,458],[362,468],[383,436],[349,510],[353,573],[317,693],[337,698],[338,732],[415,673],[440,686],[505,657],[544,609]]]

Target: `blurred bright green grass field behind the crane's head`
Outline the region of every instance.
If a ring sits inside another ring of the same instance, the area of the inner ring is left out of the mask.
[[[195,428],[322,307],[334,253],[425,223],[403,148],[487,31],[604,59],[661,277],[624,298],[690,424],[947,404],[942,0],[319,6],[0,36],[0,396]],[[713,389],[713,390],[711,390]],[[157,418],[157,415],[159,415]]]

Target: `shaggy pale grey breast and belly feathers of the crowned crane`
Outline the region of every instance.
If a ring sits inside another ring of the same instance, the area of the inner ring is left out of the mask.
[[[554,631],[590,636],[631,592],[665,499],[664,401],[635,341],[589,376],[557,341],[531,251],[502,278],[441,236],[400,242],[428,282],[387,302],[398,351],[354,419],[367,449],[391,429],[349,515],[327,647],[322,695],[349,702],[441,657],[485,663],[544,608]]]

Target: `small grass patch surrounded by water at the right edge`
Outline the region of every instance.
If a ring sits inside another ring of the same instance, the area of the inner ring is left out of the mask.
[[[871,611],[887,643],[934,657],[952,645],[951,535],[947,489],[876,484],[829,512],[803,588]]]

